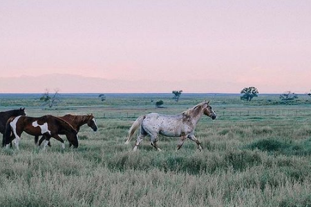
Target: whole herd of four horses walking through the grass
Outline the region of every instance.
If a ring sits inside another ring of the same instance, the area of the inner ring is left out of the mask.
[[[198,150],[202,150],[200,141],[194,136],[194,130],[203,114],[211,117],[211,119],[216,119],[216,113],[209,106],[209,101],[203,101],[178,115],[160,115],[158,113],[143,115],[138,117],[129,129],[129,136],[125,144],[129,144],[135,130],[140,128],[133,148],[134,151],[138,149],[138,146],[147,135],[151,137],[151,146],[159,151],[159,135],[180,137],[177,146],[178,150],[187,138],[196,143]],[[14,140],[15,146],[19,150],[21,133],[26,132],[29,135],[35,136],[35,144],[37,146],[40,146],[44,141],[44,150],[46,146],[50,146],[51,137],[62,142],[62,148],[65,148],[64,140],[59,135],[66,135],[69,146],[73,145],[73,147],[77,148],[79,146],[77,133],[84,124],[91,127],[93,131],[97,131],[97,124],[93,114],[65,115],[63,117],[52,115],[27,117],[25,108],[0,112],[0,132],[3,134],[2,146],[5,148],[12,147],[12,141]],[[39,136],[42,136],[40,140]]]

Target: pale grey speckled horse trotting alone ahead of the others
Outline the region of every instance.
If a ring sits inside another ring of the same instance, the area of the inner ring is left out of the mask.
[[[129,137],[125,144],[129,144],[135,130],[140,128],[140,133],[135,147],[133,148],[134,151],[137,150],[140,142],[142,142],[142,139],[147,135],[150,135],[151,137],[151,146],[160,151],[160,148],[158,148],[157,145],[159,134],[167,137],[180,137],[177,146],[178,150],[187,138],[196,142],[198,149],[202,150],[200,141],[194,136],[196,124],[198,124],[202,114],[211,117],[213,120],[216,119],[216,113],[211,109],[211,106],[209,106],[209,101],[199,103],[194,106],[194,108],[182,112],[180,115],[159,115],[157,113],[150,113],[138,117],[129,129]]]

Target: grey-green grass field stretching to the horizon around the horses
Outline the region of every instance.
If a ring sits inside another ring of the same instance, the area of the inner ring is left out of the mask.
[[[311,206],[311,99],[279,103],[263,95],[63,95],[51,110],[39,95],[0,96],[0,111],[26,107],[28,116],[97,117],[98,132],[83,126],[79,148],[38,149],[23,133],[20,150],[0,150],[0,206]],[[165,108],[155,108],[162,99]],[[158,152],[144,140],[132,152],[126,133],[148,112],[177,114],[205,99],[218,114],[202,117],[196,137],[160,137]],[[153,102],[151,102],[153,101]],[[66,138],[64,138],[66,139]]]

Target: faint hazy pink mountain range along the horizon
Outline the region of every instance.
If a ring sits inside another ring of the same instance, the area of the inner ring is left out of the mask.
[[[241,81],[234,78],[228,82],[213,77],[209,80],[171,79],[171,81],[162,81],[162,79],[163,77],[155,77],[153,80],[133,81],[64,74],[36,77],[30,75],[0,77],[0,93],[41,93],[46,88],[50,92],[58,89],[61,93],[170,93],[172,90],[183,90],[186,93],[239,93],[244,87],[248,86],[255,86],[258,88],[259,93],[282,93],[288,90],[305,93],[310,92],[309,87],[311,87],[303,86],[303,83],[299,83],[299,79],[293,79],[290,82],[260,79]]]

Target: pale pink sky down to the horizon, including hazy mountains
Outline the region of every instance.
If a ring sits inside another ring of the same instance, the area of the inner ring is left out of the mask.
[[[0,92],[310,92],[310,11],[309,0],[1,0]]]

